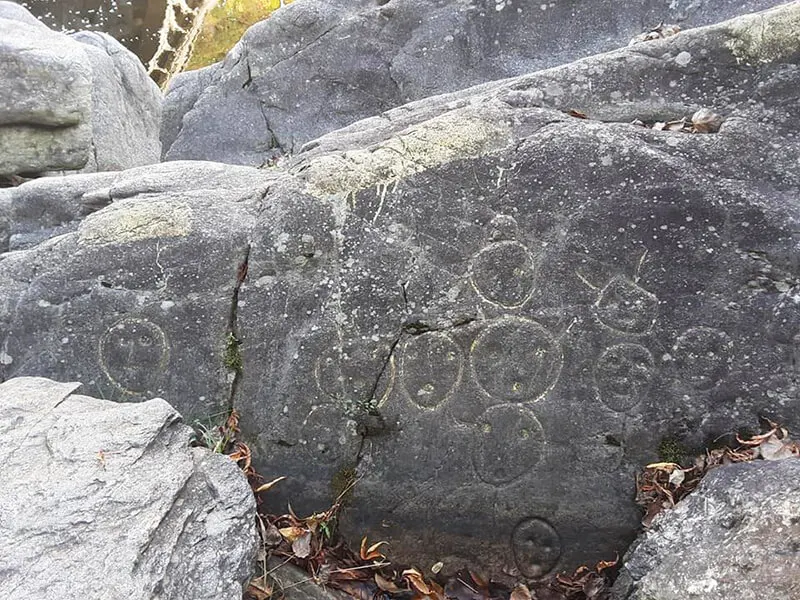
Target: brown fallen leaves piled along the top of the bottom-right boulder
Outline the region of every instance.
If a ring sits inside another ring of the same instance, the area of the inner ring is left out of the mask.
[[[672,462],[647,465],[636,478],[636,502],[645,509],[642,524],[649,527],[658,514],[694,491],[706,473],[716,467],[756,459],[781,460],[800,456],[800,444],[789,438],[789,432],[771,421],[767,423],[767,432],[749,440],[737,435],[737,448],[725,446],[707,450],[695,459],[691,467],[684,468]]]

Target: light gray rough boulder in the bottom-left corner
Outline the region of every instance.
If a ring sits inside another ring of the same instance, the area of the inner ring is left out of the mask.
[[[115,404],[79,386],[0,385],[3,596],[239,600],[256,545],[239,468],[190,448],[164,400]]]

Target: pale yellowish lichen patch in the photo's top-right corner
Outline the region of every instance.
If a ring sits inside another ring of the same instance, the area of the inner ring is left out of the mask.
[[[800,52],[800,5],[793,3],[747,15],[728,28],[726,46],[737,62],[770,63]]]

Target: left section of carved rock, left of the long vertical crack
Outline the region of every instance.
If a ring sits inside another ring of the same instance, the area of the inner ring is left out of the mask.
[[[268,184],[255,169],[175,162],[94,190],[111,204],[77,231],[0,259],[0,376],[80,380],[111,400],[169,398],[190,420],[225,410],[237,266]]]

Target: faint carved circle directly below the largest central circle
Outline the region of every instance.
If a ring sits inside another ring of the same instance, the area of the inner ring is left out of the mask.
[[[529,410],[515,404],[492,406],[478,420],[472,464],[486,483],[518,479],[541,460],[544,430]]]

